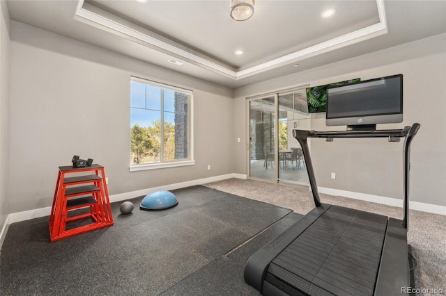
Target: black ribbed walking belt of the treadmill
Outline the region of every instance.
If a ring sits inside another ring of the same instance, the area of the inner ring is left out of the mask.
[[[386,227],[383,215],[331,206],[272,260],[266,281],[289,295],[373,295]]]

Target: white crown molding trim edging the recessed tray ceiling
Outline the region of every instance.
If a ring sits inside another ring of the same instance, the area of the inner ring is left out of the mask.
[[[116,15],[107,13],[100,8],[84,2],[84,0],[79,1],[75,19],[110,33],[114,33],[115,35],[119,35],[122,38],[143,44],[151,49],[161,51],[164,54],[169,54],[183,62],[198,65],[199,67],[230,77],[234,80],[240,80],[283,65],[295,64],[305,58],[333,51],[387,33],[384,0],[376,0],[376,6],[378,8],[379,17],[379,22],[376,24],[242,70],[219,63],[213,58],[200,54],[197,51],[164,38],[163,36],[142,28],[141,26],[132,24]]]

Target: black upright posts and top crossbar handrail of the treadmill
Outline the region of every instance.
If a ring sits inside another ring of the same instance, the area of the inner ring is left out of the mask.
[[[307,138],[406,138],[403,144],[403,170],[404,170],[404,199],[403,199],[403,227],[408,229],[409,215],[409,170],[410,170],[410,143],[415,137],[419,123],[412,126],[405,126],[403,129],[374,130],[374,131],[305,131],[293,129],[293,137],[298,140],[302,147],[305,163],[307,167],[308,179],[312,188],[314,205],[321,206],[321,198],[318,193],[318,186],[314,176],[312,158],[309,153]]]

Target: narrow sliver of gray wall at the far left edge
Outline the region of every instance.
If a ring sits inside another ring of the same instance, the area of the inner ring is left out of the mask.
[[[6,1],[0,1],[0,231],[10,213],[9,167],[9,47],[10,18]]]

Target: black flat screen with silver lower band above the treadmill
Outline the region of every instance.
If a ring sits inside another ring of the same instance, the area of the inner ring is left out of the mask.
[[[376,124],[402,121],[402,74],[327,88],[328,126],[375,129]]]

